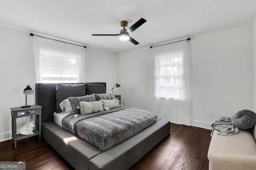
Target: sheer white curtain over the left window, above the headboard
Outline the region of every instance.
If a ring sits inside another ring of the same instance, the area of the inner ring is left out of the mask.
[[[36,82],[84,82],[84,47],[34,35]]]

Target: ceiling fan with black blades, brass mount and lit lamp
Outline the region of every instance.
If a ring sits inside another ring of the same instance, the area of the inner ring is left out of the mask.
[[[144,18],[140,18],[140,20],[138,20],[136,23],[134,23],[130,28],[128,28],[127,30],[125,29],[125,27],[128,26],[128,22],[127,21],[121,21],[121,26],[124,27],[119,34],[92,34],[92,35],[103,35],[103,36],[119,36],[120,40],[123,41],[131,41],[132,43],[134,43],[135,45],[139,44],[135,39],[133,39],[132,37],[130,37],[130,33],[132,33],[132,31],[134,31],[135,29],[137,29],[138,27],[140,27],[143,23],[145,23],[147,20],[145,20]]]

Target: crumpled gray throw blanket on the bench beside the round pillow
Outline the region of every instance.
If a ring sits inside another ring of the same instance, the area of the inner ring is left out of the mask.
[[[218,131],[219,135],[234,135],[239,132],[239,129],[232,125],[229,117],[220,117],[220,119],[214,121],[212,124],[212,133],[214,130]]]

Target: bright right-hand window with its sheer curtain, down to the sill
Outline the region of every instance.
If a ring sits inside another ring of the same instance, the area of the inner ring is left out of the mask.
[[[156,98],[186,99],[187,42],[184,42],[154,47]]]

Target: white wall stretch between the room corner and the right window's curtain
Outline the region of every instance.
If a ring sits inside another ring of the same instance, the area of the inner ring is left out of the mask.
[[[150,111],[151,49],[118,54],[121,104]],[[124,104],[125,101],[125,104]]]

